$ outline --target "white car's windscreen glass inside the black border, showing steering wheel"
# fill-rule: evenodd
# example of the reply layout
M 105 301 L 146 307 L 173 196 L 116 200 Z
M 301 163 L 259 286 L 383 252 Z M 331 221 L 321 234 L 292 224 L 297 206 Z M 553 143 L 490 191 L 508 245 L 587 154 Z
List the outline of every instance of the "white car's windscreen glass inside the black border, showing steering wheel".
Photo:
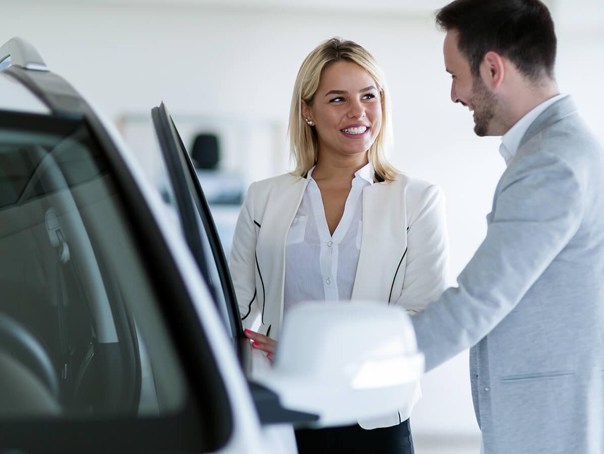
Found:
M 13 403 L 0 419 L 182 409 L 181 366 L 88 129 L 2 124 L 0 361 L 28 386 L 0 387 Z

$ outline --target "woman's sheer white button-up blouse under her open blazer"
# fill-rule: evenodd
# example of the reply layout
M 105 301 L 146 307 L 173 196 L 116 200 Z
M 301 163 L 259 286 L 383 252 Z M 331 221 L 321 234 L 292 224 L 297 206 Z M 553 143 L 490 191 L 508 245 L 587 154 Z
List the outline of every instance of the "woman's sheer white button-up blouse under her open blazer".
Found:
M 373 168 L 367 164 L 356 171 L 333 236 L 313 170 L 307 175 L 308 185 L 286 240 L 284 313 L 301 301 L 350 299 L 355 284 L 361 252 L 361 196 L 363 188 L 373 185 Z

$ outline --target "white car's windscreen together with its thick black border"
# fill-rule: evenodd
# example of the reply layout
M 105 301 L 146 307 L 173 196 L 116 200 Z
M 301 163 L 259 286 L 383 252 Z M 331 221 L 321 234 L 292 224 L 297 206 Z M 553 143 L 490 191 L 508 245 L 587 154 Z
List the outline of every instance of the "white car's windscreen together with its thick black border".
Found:
M 0 110 L 2 446 L 216 450 L 233 426 L 208 339 L 98 140 Z

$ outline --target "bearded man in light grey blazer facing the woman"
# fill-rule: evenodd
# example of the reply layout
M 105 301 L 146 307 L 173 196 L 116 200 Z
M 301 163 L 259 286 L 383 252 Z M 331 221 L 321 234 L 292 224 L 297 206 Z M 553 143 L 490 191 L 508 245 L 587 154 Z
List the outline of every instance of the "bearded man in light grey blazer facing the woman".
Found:
M 538 0 L 457 0 L 437 12 L 451 98 L 503 135 L 487 235 L 413 317 L 432 369 L 471 350 L 486 454 L 604 452 L 604 153 L 554 80 Z

